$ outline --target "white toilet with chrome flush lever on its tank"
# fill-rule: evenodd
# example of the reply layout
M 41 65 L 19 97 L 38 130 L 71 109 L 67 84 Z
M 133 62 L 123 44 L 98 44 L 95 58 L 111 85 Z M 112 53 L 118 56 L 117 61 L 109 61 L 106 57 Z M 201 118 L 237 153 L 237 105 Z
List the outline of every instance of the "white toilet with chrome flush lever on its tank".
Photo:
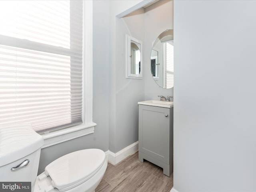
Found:
M 0 127 L 0 181 L 31 182 L 32 192 L 94 192 L 108 161 L 100 149 L 66 154 L 37 176 L 42 136 L 30 124 Z

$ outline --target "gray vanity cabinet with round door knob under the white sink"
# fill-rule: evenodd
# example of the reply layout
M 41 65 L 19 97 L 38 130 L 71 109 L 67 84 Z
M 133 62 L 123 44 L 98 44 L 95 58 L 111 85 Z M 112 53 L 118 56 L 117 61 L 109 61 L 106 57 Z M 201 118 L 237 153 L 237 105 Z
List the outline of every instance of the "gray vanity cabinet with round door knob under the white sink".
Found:
M 173 172 L 173 107 L 139 105 L 139 161 Z

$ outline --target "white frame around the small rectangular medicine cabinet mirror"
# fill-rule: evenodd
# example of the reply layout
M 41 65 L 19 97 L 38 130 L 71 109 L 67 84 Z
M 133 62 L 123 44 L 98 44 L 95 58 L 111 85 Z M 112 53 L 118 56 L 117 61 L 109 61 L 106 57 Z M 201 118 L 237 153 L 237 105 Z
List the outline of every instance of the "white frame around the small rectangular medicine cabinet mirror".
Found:
M 132 74 L 131 73 L 131 41 L 140 44 L 140 74 Z M 142 41 L 133 38 L 131 36 L 126 35 L 126 78 L 132 79 L 142 79 Z

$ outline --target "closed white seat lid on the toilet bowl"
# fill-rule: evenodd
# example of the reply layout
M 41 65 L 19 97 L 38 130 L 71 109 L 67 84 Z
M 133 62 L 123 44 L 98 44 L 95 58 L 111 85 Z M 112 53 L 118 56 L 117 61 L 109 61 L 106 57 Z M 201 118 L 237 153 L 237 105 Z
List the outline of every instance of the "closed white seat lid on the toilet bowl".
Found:
M 105 157 L 100 149 L 80 150 L 51 162 L 45 172 L 51 177 L 52 186 L 64 191 L 91 178 L 104 164 Z

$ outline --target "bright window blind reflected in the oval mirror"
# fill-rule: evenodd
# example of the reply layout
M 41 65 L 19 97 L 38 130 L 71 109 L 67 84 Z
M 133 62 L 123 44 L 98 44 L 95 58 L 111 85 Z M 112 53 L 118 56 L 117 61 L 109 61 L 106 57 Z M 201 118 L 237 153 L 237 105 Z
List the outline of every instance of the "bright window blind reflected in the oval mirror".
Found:
M 164 87 L 172 88 L 174 85 L 174 68 L 173 68 L 173 42 L 164 43 Z

